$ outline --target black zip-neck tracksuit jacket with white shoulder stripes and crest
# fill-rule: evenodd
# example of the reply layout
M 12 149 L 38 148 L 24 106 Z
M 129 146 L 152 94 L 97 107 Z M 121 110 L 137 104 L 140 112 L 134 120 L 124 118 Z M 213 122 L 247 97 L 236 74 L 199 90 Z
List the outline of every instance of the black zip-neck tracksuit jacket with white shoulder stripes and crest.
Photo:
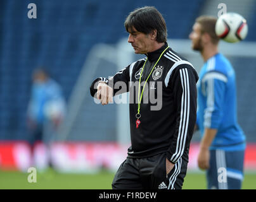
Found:
M 120 70 L 111 78 L 96 78 L 90 92 L 96 97 L 98 81 L 105 81 L 114 86 L 113 93 L 117 95 L 130 92 L 130 128 L 131 147 L 128 157 L 141 158 L 166 152 L 170 162 L 176 163 L 179 158 L 188 162 L 189 144 L 196 122 L 196 82 L 198 75 L 186 59 L 179 56 L 167 43 L 158 50 L 146 54 L 146 58 L 133 62 Z M 162 54 L 163 50 L 165 52 Z M 155 70 L 148 78 L 151 69 Z M 148 78 L 141 100 L 139 127 L 136 128 L 136 114 L 138 112 L 138 84 L 143 64 L 141 83 Z M 117 87 L 118 81 L 125 83 Z M 137 81 L 137 82 L 136 82 Z M 119 85 L 120 86 L 120 85 Z M 141 85 L 141 91 L 143 86 Z M 158 93 L 162 92 L 162 93 Z M 155 96 L 155 100 L 150 97 Z M 157 103 L 155 102 L 157 100 Z M 157 107 L 158 106 L 158 107 Z M 155 109 L 154 109 L 155 107 Z

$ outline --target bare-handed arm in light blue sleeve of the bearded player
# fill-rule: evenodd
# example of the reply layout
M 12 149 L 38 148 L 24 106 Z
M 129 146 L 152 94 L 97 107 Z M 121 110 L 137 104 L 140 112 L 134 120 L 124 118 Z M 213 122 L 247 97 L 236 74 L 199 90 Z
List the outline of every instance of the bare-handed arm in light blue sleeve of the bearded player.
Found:
M 200 142 L 198 167 L 203 170 L 209 168 L 209 147 L 214 141 L 224 115 L 222 106 L 224 104 L 226 82 L 227 77 L 216 71 L 209 72 L 202 78 L 202 83 L 205 86 L 205 95 L 207 97 L 207 108 L 204 114 L 203 124 L 205 131 Z

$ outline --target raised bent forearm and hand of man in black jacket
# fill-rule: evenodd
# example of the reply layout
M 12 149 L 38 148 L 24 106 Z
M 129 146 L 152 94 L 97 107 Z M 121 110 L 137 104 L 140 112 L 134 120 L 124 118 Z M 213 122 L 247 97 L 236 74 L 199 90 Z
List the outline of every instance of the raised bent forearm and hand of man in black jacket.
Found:
M 99 77 L 90 87 L 91 96 L 99 99 L 102 105 L 113 102 L 113 96 L 129 90 L 129 66 L 110 78 Z

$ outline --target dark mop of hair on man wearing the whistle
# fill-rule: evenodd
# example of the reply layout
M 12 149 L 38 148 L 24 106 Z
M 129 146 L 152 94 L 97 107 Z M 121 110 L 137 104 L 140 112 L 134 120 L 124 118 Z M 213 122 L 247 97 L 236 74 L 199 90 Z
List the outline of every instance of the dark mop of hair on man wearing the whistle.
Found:
M 161 13 L 153 6 L 137 8 L 127 16 L 124 27 L 127 32 L 135 28 L 138 32 L 149 34 L 157 30 L 157 42 L 167 41 L 167 28 Z

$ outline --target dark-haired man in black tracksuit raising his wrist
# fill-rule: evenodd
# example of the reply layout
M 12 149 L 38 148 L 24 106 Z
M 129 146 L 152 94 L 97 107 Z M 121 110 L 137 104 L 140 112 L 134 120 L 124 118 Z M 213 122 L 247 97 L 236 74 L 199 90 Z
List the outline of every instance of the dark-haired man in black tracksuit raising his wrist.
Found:
M 154 7 L 132 11 L 125 28 L 134 52 L 146 57 L 109 79 L 97 78 L 90 88 L 102 105 L 130 92 L 131 147 L 112 187 L 181 189 L 196 122 L 198 75 L 167 44 L 165 21 Z

